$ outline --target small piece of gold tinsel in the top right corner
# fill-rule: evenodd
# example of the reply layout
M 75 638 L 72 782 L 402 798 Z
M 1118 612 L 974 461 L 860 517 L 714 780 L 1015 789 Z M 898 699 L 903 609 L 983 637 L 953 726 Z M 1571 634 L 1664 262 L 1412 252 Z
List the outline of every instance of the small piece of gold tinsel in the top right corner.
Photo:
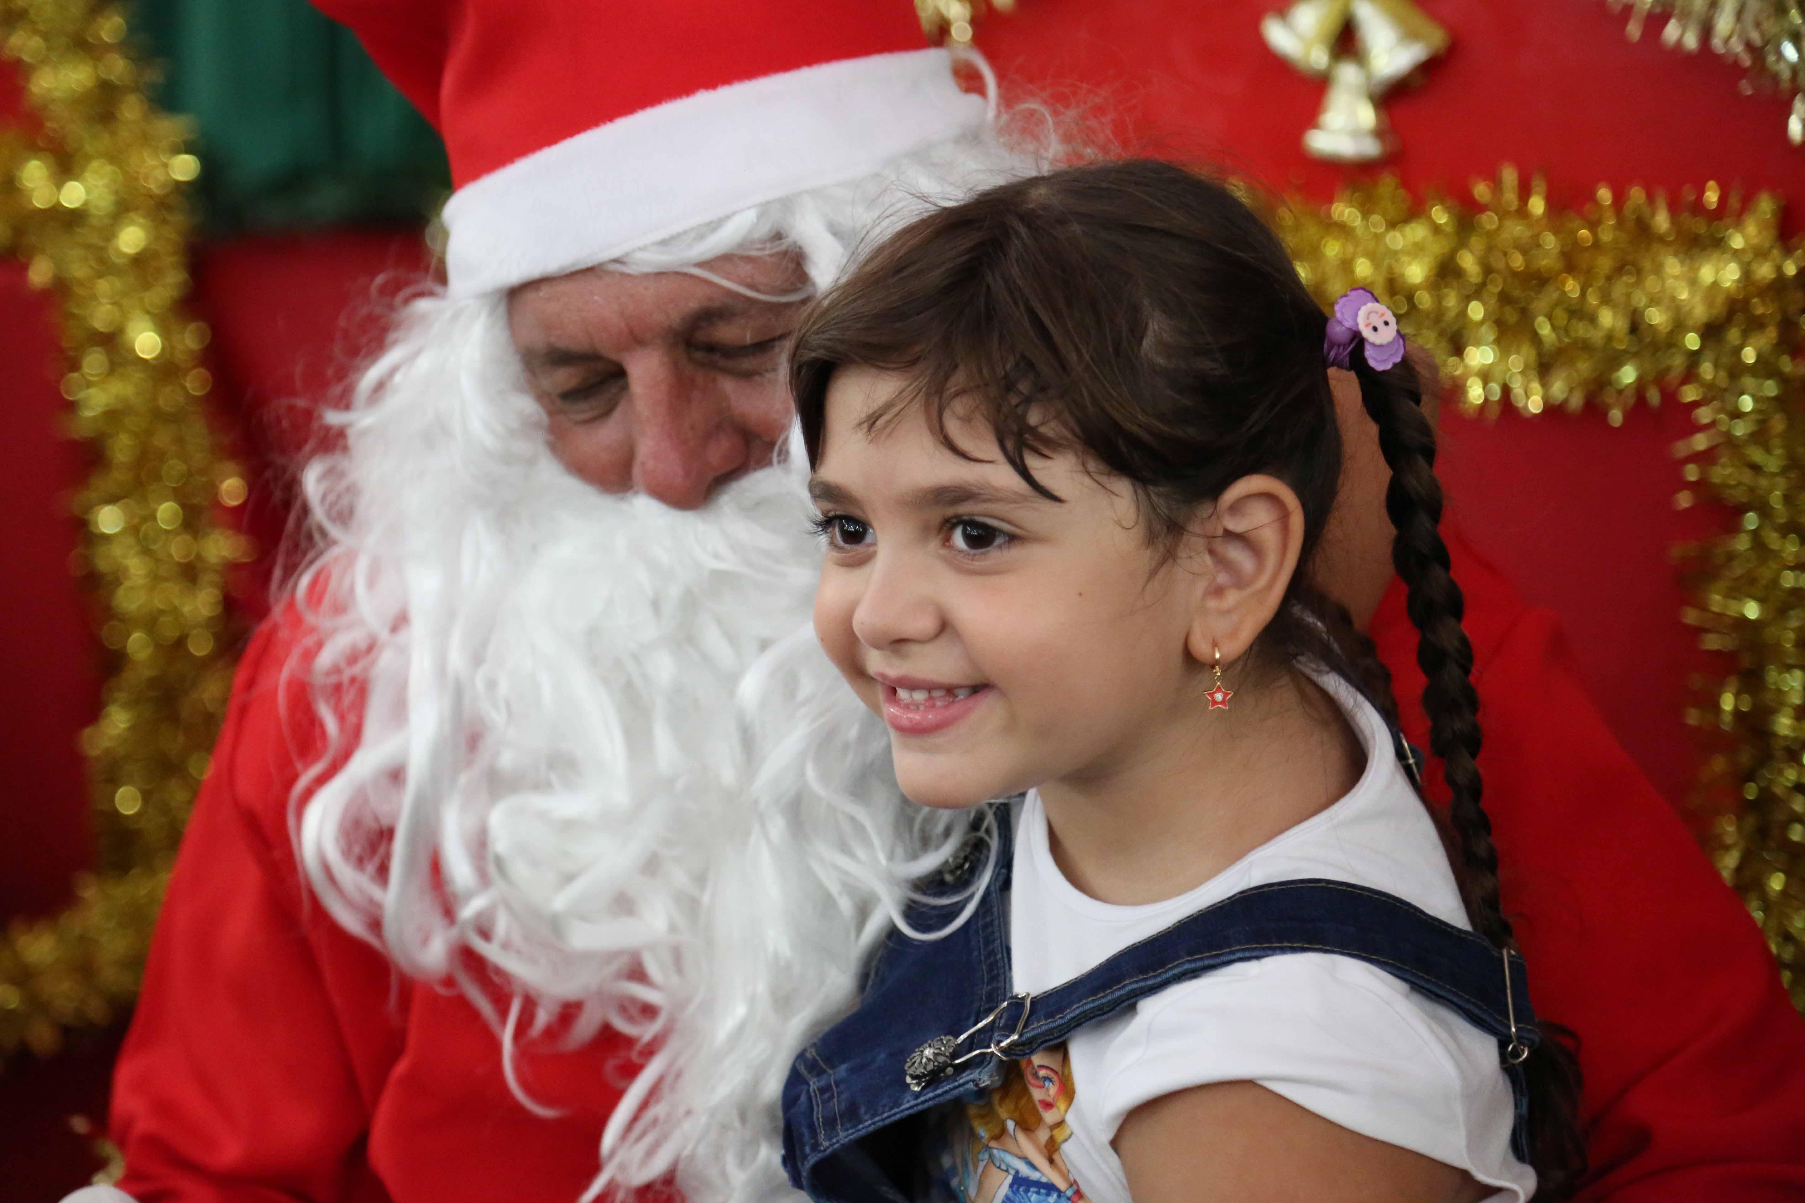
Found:
M 1666 16 L 1661 45 L 1711 52 L 1744 70 L 1760 69 L 1782 94 L 1792 92 L 1787 139 L 1805 142 L 1805 4 L 1801 0 L 1606 0 L 1612 13 L 1628 5 L 1630 41 L 1639 41 L 1650 13 Z M 1747 87 L 1747 85 L 1745 85 Z

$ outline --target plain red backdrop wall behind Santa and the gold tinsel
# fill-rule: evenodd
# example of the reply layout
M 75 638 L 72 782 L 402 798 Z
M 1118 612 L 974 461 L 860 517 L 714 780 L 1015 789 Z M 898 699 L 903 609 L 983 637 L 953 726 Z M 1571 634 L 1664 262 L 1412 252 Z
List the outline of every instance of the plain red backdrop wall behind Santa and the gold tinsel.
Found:
M 901 0 L 895 0 L 901 2 Z M 1630 45 L 1599 0 L 1421 0 L 1455 36 L 1421 88 L 1388 103 L 1402 153 L 1384 164 L 1412 188 L 1462 193 L 1514 162 L 1543 173 L 1558 202 L 1599 182 L 1680 193 L 1706 180 L 1773 189 L 1805 204 L 1805 153 L 1785 142 L 1785 105 L 1742 96 L 1711 56 Z M 1126 150 L 1226 162 L 1282 191 L 1327 198 L 1347 179 L 1303 157 L 1321 85 L 1258 36 L 1265 0 L 1018 0 L 978 41 L 1011 96 L 1114 114 Z M 0 79 L 0 88 L 11 88 Z M 0 94 L 0 123 L 29 121 Z M 1368 173 L 1356 173 L 1354 179 Z M 1789 224 L 1796 229 L 1794 211 Z M 415 231 L 332 233 L 204 245 L 197 312 L 215 328 L 211 368 L 222 436 L 251 469 L 247 523 L 271 545 L 310 413 L 368 348 L 395 287 L 422 265 Z M 87 857 L 87 803 L 74 738 L 96 712 L 103 662 L 87 599 L 67 570 L 79 523 L 72 491 L 85 451 L 61 433 L 51 298 L 0 263 L 0 364 L 7 438 L 0 514 L 11 554 L 0 588 L 0 914 L 67 900 Z M 1680 406 L 1635 409 L 1623 427 L 1594 415 L 1449 418 L 1444 474 L 1469 537 L 1536 602 L 1561 613 L 1612 730 L 1675 801 L 1693 774 L 1679 714 L 1688 675 L 1709 671 L 1679 622 L 1675 541 L 1713 532 L 1708 509 L 1675 512 L 1668 447 L 1691 433 Z M 260 601 L 253 588 L 245 604 Z M 79 1071 L 76 1071 L 79 1070 Z M 74 1071 L 74 1073 L 72 1073 Z M 105 1046 L 87 1061 L 0 1077 L 0 1183 L 7 1199 L 54 1199 L 79 1183 L 87 1151 L 72 1111 L 103 1107 Z

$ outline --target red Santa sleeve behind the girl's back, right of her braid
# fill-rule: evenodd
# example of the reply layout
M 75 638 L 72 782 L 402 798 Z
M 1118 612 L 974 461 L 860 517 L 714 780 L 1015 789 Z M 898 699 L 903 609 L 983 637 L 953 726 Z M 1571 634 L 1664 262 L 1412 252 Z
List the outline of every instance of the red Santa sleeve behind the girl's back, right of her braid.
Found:
M 1590 1185 L 1612 1203 L 1805 1198 L 1805 1023 L 1767 945 L 1587 700 L 1554 617 L 1449 537 L 1480 770 L 1540 1015 L 1579 1033 Z M 1428 745 L 1393 583 L 1374 638 Z M 1431 783 L 1433 792 L 1433 783 Z

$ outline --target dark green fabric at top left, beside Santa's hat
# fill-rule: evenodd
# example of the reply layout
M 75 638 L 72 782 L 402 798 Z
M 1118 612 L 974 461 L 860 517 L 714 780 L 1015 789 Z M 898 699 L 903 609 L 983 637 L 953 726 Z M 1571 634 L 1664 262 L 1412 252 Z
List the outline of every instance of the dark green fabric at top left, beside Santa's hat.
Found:
M 439 135 L 307 0 L 134 0 L 130 16 L 157 101 L 195 121 L 206 233 L 417 222 L 451 191 Z

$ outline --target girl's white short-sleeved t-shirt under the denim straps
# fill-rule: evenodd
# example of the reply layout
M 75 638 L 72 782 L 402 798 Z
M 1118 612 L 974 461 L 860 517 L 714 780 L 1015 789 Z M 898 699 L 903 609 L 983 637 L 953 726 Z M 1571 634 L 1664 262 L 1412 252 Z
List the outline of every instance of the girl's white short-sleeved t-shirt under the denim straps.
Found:
M 1435 824 L 1392 754 L 1384 720 L 1345 682 L 1319 684 L 1341 703 L 1366 750 L 1359 783 L 1328 810 L 1177 898 L 1123 907 L 1079 893 L 1054 864 L 1038 794 L 1027 795 L 1016 808 L 1011 889 L 1016 992 L 1051 990 L 1206 905 L 1285 878 L 1370 886 L 1469 927 Z M 1076 1180 L 1092 1203 L 1130 1203 L 1110 1147 L 1123 1118 L 1143 1102 L 1209 1082 L 1258 1082 L 1341 1127 L 1460 1167 L 1498 1187 L 1489 1203 L 1522 1203 L 1536 1189 L 1534 1171 L 1511 1152 L 1514 1107 L 1498 1042 L 1448 1006 L 1350 958 L 1298 952 L 1218 969 L 1079 1028 L 1063 1064 L 1054 1053 L 1047 1064 L 1022 1066 L 1027 1080 L 1040 1075 L 1047 1127 L 1029 1147 L 1011 1122 L 989 1154 L 1000 1167 L 1027 1160 L 1041 1167 L 1022 1171 L 1022 1198 L 1052 1198 L 1049 1187 L 1029 1187 L 1051 1178 L 1065 1187 L 1063 1198 L 1079 1198 L 1070 1190 Z M 1060 1107 L 1065 1127 L 1058 1140 L 1047 1140 Z M 991 1171 L 991 1180 L 1000 1172 L 1007 1171 Z M 1004 1183 L 995 1199 L 1009 1198 Z

